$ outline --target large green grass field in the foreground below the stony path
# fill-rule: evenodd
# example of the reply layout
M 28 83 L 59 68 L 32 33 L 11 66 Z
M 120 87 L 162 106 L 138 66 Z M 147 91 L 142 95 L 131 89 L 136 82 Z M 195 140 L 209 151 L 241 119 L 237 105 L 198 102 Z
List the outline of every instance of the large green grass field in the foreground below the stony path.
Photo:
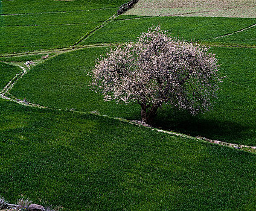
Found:
M 0 99 L 0 193 L 63 210 L 254 210 L 254 154 Z

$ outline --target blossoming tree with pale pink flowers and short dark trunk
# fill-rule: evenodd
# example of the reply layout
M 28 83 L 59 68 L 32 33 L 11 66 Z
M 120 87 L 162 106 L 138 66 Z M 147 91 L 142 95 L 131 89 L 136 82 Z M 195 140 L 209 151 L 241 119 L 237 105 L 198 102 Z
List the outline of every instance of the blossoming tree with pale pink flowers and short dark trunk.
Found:
M 205 46 L 150 28 L 135 43 L 120 44 L 98 58 L 92 90 L 105 101 L 138 102 L 142 121 L 152 124 L 163 104 L 192 114 L 209 110 L 219 87 L 218 68 Z

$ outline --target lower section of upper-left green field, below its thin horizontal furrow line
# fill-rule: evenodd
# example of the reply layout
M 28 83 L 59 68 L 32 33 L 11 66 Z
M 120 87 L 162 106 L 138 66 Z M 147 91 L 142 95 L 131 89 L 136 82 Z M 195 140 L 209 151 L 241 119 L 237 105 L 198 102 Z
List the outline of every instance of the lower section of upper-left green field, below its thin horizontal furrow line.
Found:
M 95 24 L 4 27 L 1 39 L 2 54 L 65 48 L 75 43 Z

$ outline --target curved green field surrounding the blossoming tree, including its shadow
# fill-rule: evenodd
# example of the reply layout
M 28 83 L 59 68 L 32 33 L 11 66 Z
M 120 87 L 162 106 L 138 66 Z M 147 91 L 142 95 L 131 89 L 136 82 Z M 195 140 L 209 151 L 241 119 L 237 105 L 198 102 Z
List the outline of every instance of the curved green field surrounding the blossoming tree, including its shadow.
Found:
M 140 119 L 137 104 L 104 102 L 89 90 L 94 60 L 106 48 L 88 48 L 59 55 L 35 66 L 24 75 L 11 93 L 35 104 L 57 109 L 99 112 L 126 119 Z M 232 143 L 256 145 L 256 101 L 254 57 L 256 49 L 212 48 L 219 58 L 221 74 L 226 75 L 219 99 L 211 112 L 195 117 L 164 107 L 156 121 L 168 130 L 220 139 Z

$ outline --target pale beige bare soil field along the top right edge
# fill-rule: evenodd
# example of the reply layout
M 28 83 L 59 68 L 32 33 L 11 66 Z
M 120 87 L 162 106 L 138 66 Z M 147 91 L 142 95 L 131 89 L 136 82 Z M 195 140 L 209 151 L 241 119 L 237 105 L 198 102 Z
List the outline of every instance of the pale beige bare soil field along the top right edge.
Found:
M 140 0 L 126 14 L 256 18 L 252 0 Z

